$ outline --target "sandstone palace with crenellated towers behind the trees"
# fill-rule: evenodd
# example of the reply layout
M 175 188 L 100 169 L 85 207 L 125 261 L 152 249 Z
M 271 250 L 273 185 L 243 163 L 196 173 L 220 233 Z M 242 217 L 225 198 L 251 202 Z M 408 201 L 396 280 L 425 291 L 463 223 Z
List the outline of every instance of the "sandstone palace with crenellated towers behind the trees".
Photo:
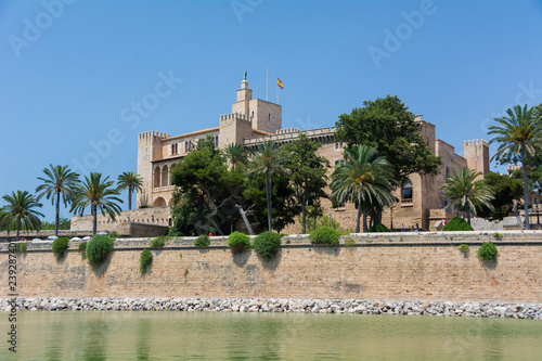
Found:
M 489 172 L 489 147 L 483 140 L 465 141 L 464 156 L 455 154 L 455 149 L 449 143 L 436 138 L 435 125 L 415 117 L 420 131 L 431 152 L 441 157 L 440 175 L 411 175 L 409 180 L 396 192 L 399 199 L 392 207 L 386 208 L 383 223 L 388 228 L 421 228 L 430 230 L 442 219 L 452 217 L 452 209 L 447 208 L 449 199 L 443 196 L 439 186 L 444 178 L 455 168 L 468 167 Z M 295 141 L 304 132 L 308 138 L 322 143 L 320 155 L 326 157 L 331 165 L 343 158 L 341 142 L 335 140 L 335 127 L 299 130 L 282 128 L 282 107 L 279 104 L 260 99 L 253 99 L 248 82 L 243 80 L 237 90 L 237 101 L 232 105 L 232 112 L 220 115 L 219 125 L 185 134 L 173 136 L 157 131 L 139 134 L 138 139 L 138 173 L 143 178 L 143 190 L 138 192 L 138 206 L 149 205 L 156 208 L 172 205 L 171 170 L 178 162 L 191 151 L 202 138 L 212 137 L 217 147 L 222 149 L 230 143 L 240 143 L 248 149 L 255 149 L 261 141 L 274 140 L 278 144 Z M 330 169 L 330 175 L 333 169 Z M 325 215 L 337 219 L 341 227 L 356 225 L 357 211 L 352 204 L 332 208 L 331 202 L 322 202 Z M 164 209 L 160 210 L 160 214 Z M 170 219 L 168 219 L 170 223 Z M 287 233 L 299 231 L 299 224 L 285 230 Z

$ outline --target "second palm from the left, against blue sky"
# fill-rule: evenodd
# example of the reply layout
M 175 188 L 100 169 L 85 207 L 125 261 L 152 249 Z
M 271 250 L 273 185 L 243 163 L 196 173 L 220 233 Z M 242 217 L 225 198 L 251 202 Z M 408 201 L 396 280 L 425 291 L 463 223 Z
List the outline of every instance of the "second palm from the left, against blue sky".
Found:
M 55 205 L 56 216 L 54 219 L 54 235 L 59 235 L 59 218 L 60 218 L 60 206 L 61 206 L 61 195 L 62 202 L 64 206 L 67 206 L 68 203 L 72 202 L 72 195 L 74 191 L 79 185 L 79 175 L 73 172 L 68 169 L 67 166 L 54 166 L 52 164 L 49 165 L 49 168 L 43 168 L 43 172 L 47 178 L 39 178 L 43 184 L 39 185 L 36 189 L 36 193 L 38 193 L 38 197 L 36 201 L 39 201 L 42 196 L 46 196 L 48 199 L 51 198 L 51 203 Z

